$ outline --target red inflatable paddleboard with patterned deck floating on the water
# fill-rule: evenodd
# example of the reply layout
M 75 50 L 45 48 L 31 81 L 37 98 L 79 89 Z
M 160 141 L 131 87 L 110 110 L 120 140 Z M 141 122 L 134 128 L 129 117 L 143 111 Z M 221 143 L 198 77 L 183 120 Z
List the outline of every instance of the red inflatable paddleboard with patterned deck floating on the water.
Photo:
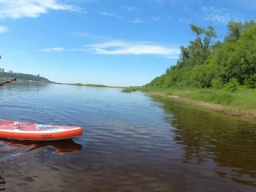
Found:
M 0 119 L 0 138 L 49 141 L 74 138 L 81 134 L 82 128 L 79 126 L 49 126 Z

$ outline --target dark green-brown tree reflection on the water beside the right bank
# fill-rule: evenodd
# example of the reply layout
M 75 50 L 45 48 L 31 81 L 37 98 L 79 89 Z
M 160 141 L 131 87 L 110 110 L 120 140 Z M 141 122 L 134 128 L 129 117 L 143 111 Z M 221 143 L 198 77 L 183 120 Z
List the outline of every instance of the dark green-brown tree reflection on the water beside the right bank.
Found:
M 256 186 L 256 125 L 223 117 L 186 103 L 154 97 L 164 105 L 174 141 L 183 146 L 182 162 L 218 164 L 216 173 L 234 182 Z

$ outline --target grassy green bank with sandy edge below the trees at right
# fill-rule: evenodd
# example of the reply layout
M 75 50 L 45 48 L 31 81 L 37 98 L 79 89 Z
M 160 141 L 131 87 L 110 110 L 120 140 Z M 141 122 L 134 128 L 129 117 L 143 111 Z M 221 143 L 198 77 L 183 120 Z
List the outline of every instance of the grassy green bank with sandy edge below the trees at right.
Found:
M 234 92 L 213 89 L 166 90 L 147 87 L 130 89 L 130 91 L 134 90 L 203 106 L 220 114 L 256 121 L 255 89 L 240 87 Z

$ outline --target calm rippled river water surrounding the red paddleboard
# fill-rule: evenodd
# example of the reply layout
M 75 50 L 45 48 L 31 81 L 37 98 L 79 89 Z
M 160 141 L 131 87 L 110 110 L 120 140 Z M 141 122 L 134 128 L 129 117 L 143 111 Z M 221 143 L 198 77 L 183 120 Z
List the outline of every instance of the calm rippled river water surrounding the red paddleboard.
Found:
M 0 89 L 0 118 L 81 126 L 71 140 L 0 140 L 0 190 L 256 191 L 256 123 L 120 89 Z

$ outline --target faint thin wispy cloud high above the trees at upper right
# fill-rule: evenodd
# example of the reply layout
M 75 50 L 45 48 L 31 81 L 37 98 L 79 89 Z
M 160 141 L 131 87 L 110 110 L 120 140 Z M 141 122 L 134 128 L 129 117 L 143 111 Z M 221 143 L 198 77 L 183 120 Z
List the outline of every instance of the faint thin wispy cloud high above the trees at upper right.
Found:
M 214 21 L 214 22 L 226 24 L 230 20 L 233 20 L 233 21 L 242 20 L 238 12 L 234 10 L 226 9 L 224 7 L 216 8 L 214 6 L 203 6 L 202 10 L 206 14 L 204 19 L 208 21 Z

